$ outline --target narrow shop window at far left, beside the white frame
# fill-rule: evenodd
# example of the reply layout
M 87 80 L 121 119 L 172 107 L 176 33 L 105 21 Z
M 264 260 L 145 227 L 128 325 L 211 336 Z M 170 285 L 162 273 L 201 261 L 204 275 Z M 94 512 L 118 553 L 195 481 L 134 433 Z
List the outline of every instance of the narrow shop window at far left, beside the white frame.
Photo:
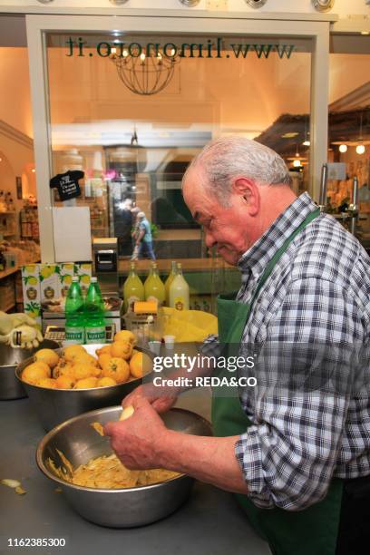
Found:
M 0 310 L 23 309 L 20 267 L 40 260 L 24 17 L 0 17 Z

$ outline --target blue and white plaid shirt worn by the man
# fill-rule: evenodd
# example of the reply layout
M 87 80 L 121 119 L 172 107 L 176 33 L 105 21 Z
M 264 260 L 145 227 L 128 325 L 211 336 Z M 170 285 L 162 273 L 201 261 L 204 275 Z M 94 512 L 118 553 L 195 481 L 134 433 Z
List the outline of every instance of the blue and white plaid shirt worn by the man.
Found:
M 250 300 L 269 260 L 314 209 L 301 195 L 240 258 L 237 300 Z M 235 453 L 251 501 L 299 511 L 325 497 L 332 477 L 370 474 L 370 258 L 336 219 L 320 214 L 290 244 L 252 307 L 242 344 L 264 349 L 265 364 L 265 347 L 273 344 L 326 346 L 329 353 L 361 345 L 367 353 L 367 385 L 350 395 L 239 390 L 251 425 Z M 219 348 L 217 336 L 209 336 L 201 351 L 217 355 Z M 271 355 L 271 365 L 277 358 Z

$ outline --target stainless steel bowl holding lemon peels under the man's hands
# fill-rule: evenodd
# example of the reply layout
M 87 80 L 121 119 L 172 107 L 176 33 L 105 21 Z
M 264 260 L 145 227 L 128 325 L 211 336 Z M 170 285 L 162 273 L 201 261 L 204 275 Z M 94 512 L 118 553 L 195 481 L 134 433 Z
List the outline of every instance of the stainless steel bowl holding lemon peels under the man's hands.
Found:
M 131 528 L 159 521 L 176 511 L 189 497 L 194 480 L 190 476 L 181 474 L 168 482 L 149 486 L 98 490 L 64 482 L 46 465 L 49 457 L 57 465 L 63 465 L 57 449 L 62 451 L 74 468 L 95 457 L 111 454 L 108 438 L 101 437 L 90 424 L 97 421 L 105 424 L 110 420 L 118 420 L 121 411 L 121 406 L 113 406 L 81 414 L 57 426 L 39 443 L 36 461 L 40 470 L 62 487 L 73 509 L 84 519 L 101 526 Z M 171 430 L 195 435 L 211 435 L 209 422 L 199 414 L 183 409 L 171 409 L 161 415 L 161 418 Z

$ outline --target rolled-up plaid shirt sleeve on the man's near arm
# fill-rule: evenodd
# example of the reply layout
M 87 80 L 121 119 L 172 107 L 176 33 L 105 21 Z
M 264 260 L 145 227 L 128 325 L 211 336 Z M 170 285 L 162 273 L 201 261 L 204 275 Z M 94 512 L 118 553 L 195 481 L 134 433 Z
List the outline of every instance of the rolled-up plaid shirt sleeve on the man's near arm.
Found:
M 248 496 L 258 507 L 301 511 L 325 497 L 348 410 L 350 376 L 348 381 L 348 375 L 336 373 L 364 333 L 358 308 L 343 288 L 320 279 L 291 284 L 262 337 L 263 365 L 272 368 L 270 376 L 275 372 L 276 383 L 240 394 L 251 425 L 240 435 L 235 453 Z M 287 364 L 287 357 L 277 355 L 276 346 L 284 344 L 296 350 L 301 346 L 300 355 L 307 350 L 306 365 L 302 356 Z M 323 379 L 320 365 L 327 356 L 331 375 Z M 297 365 L 306 379 L 292 385 L 288 375 Z M 307 376 L 312 383 L 308 379 L 307 384 Z M 254 395 L 249 405 L 248 395 Z

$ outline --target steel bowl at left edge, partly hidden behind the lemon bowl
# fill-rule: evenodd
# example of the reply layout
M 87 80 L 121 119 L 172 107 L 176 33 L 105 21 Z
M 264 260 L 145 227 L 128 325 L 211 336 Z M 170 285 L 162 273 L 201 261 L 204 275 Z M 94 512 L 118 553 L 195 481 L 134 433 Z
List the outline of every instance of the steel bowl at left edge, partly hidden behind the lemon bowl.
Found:
M 56 349 L 59 345 L 55 341 L 44 339 L 36 349 L 13 348 L 0 345 L 0 401 L 22 399 L 27 394 L 24 384 L 15 377 L 15 367 L 24 360 L 29 360 L 39 349 Z

